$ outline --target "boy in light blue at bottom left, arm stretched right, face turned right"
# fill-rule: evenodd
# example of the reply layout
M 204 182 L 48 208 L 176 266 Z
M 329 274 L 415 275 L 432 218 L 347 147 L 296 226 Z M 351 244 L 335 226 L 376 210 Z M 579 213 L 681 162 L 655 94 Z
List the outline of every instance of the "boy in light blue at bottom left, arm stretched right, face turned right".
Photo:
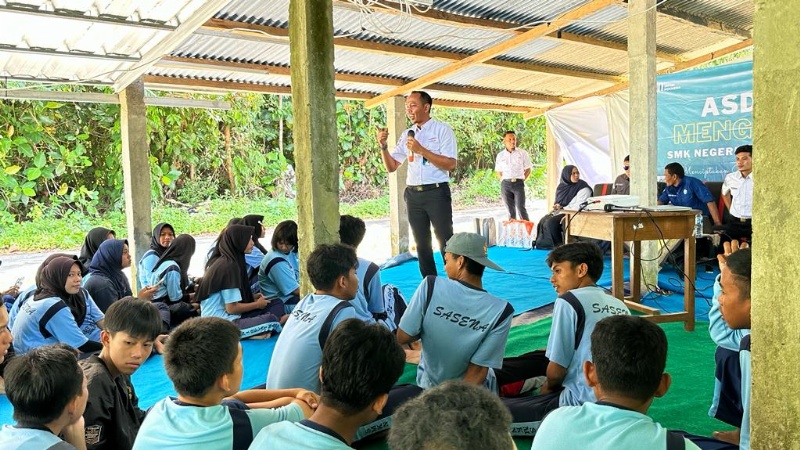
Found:
M 311 415 L 303 401 L 288 399 L 277 409 L 236 409 L 222 404 L 242 382 L 239 328 L 218 317 L 186 321 L 173 330 L 164 366 L 178 398 L 160 400 L 147 413 L 134 449 L 244 450 L 267 425 Z M 285 397 L 287 391 L 278 391 Z

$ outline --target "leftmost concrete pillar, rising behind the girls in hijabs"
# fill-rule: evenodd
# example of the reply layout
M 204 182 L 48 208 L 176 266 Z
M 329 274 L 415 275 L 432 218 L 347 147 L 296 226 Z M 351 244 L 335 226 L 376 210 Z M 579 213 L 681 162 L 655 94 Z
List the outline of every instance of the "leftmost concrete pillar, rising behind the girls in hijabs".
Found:
M 131 253 L 131 279 L 136 280 L 136 262 L 150 248 L 151 194 L 150 149 L 147 142 L 147 108 L 141 78 L 119 94 L 122 135 L 122 172 L 125 189 L 125 217 L 128 249 Z M 136 293 L 136 283 L 131 283 Z

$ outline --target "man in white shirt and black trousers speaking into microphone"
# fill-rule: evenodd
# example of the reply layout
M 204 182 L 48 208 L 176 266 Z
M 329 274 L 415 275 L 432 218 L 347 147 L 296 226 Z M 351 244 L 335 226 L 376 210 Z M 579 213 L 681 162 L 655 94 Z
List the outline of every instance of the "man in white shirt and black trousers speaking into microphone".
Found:
M 436 275 L 431 245 L 431 225 L 444 255 L 445 243 L 453 235 L 453 206 L 450 196 L 450 171 L 458 159 L 456 136 L 450 126 L 431 118 L 433 100 L 424 91 L 406 97 L 406 116 L 412 126 L 402 133 L 390 152 L 389 131 L 378 130 L 378 144 L 386 170 L 397 170 L 408 160 L 404 198 L 408 223 L 417 243 L 422 277 Z

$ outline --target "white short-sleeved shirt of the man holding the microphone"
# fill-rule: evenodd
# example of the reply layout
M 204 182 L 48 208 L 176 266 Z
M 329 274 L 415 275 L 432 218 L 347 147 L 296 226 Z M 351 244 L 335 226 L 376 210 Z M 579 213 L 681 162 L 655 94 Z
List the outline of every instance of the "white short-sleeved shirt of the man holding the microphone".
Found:
M 439 122 L 436 119 L 428 119 L 427 122 L 418 127 L 414 124 L 409 130 L 414 131 L 414 139 L 426 149 L 438 155 L 448 158 L 458 159 L 458 148 L 456 145 L 456 134 L 449 125 Z M 422 155 L 414 154 L 414 161 L 408 161 L 408 149 L 406 148 L 406 138 L 408 130 L 403 132 L 397 145 L 392 151 L 392 158 L 397 162 L 406 161 L 408 172 L 406 174 L 406 184 L 408 186 L 420 186 L 423 184 L 447 183 L 450 181 L 450 172 L 434 166 Z

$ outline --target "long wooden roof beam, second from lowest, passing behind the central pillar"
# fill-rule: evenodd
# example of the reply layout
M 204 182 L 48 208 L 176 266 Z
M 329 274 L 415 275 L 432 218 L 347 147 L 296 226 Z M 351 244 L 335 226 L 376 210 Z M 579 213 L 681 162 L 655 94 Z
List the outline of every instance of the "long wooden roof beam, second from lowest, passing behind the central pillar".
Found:
M 200 58 L 187 58 L 180 56 L 165 56 L 158 63 L 156 67 L 163 68 L 181 68 L 189 70 L 222 70 L 233 71 L 241 73 L 254 73 L 254 74 L 270 74 L 280 76 L 290 76 L 290 70 L 285 66 L 277 66 L 270 64 L 254 64 L 242 63 L 234 61 L 219 61 L 213 59 L 200 59 Z M 408 82 L 399 78 L 387 78 L 374 75 L 357 75 L 336 73 L 334 79 L 344 83 L 364 83 L 374 84 L 376 86 L 402 86 Z M 514 100 L 527 100 L 534 102 L 544 103 L 560 103 L 567 100 L 568 97 L 558 97 L 555 95 L 535 94 L 527 92 L 514 92 L 504 91 L 499 89 L 486 89 L 465 86 L 455 86 L 448 84 L 436 83 L 428 86 L 431 90 L 442 92 L 455 92 L 459 94 L 476 95 L 481 97 L 501 97 Z

